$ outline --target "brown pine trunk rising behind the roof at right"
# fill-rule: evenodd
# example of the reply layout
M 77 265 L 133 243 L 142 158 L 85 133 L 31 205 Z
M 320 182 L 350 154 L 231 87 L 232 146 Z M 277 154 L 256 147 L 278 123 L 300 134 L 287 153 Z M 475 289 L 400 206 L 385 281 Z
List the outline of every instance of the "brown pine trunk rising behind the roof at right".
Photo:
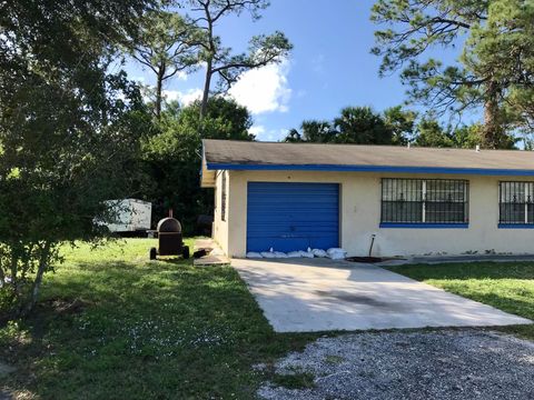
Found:
M 503 127 L 498 118 L 498 94 L 497 83 L 490 81 L 486 87 L 484 129 L 482 131 L 482 146 L 486 149 L 498 149 L 504 143 Z

